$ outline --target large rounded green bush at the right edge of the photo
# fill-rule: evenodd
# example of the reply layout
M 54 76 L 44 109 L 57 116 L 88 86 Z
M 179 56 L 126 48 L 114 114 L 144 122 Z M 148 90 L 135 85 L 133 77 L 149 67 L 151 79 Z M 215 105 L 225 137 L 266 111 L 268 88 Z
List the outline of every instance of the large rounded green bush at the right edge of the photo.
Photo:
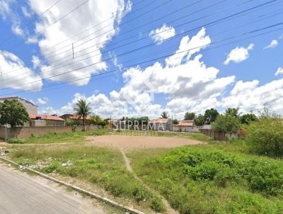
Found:
M 283 155 L 283 120 L 279 116 L 263 116 L 246 128 L 246 142 L 252 152 L 273 157 Z

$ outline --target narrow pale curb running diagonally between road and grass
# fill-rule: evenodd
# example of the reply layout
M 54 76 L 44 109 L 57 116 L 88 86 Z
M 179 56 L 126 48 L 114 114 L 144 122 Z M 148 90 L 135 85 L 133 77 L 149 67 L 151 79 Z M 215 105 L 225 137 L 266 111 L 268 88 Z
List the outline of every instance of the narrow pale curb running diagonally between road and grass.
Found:
M 6 159 L 6 158 L 4 158 L 4 157 L 0 157 L 0 159 L 1 159 L 1 160 L 4 160 L 4 161 L 6 161 L 6 162 L 9 162 L 9 163 L 11 163 L 11 164 L 14 164 L 14 165 L 16 165 L 16 166 L 19 166 L 18 163 L 13 162 L 13 161 L 11 161 L 11 160 L 9 160 L 9 159 Z M 25 167 L 25 169 L 27 169 L 28 171 L 32 171 L 33 173 L 35 173 L 35 174 L 37 174 L 37 175 L 39 175 L 39 176 L 42 176 L 42 177 L 45 178 L 45 179 L 48 179 L 48 180 L 50 180 L 50 181 L 53 181 L 53 182 L 55 182 L 55 183 L 57 183 L 57 184 L 62 184 L 62 185 L 64 185 L 64 186 L 67 186 L 67 187 L 69 187 L 69 188 L 74 189 L 75 191 L 78 191 L 78 192 L 80 192 L 80 193 L 85 193 L 85 194 L 87 194 L 88 196 L 91 196 L 91 197 L 93 197 L 93 198 L 96 198 L 96 199 L 98 199 L 98 200 L 100 200 L 100 201 L 104 201 L 105 203 L 108 203 L 108 204 L 110 204 L 110 205 L 113 205 L 113 206 L 115 206 L 115 207 L 117 207 L 117 208 L 122 208 L 123 210 L 126 210 L 126 211 L 128 211 L 128 212 L 130 212 L 130 213 L 145 214 L 145 213 L 143 213 L 143 212 L 141 212 L 141 211 L 139 211 L 139 210 L 135 210 L 134 208 L 129 208 L 129 207 L 127 207 L 126 205 L 122 205 L 121 203 L 117 203 L 117 202 L 115 202 L 115 201 L 112 201 L 112 200 L 110 200 L 110 199 L 108 199 L 108 198 L 105 198 L 105 197 L 103 197 L 103 196 L 100 196 L 100 195 L 98 195 L 98 194 L 96 194 L 96 193 L 93 193 L 93 192 L 91 192 L 91 191 L 84 190 L 83 188 L 80 188 L 79 186 L 74 186 L 74 185 L 68 184 L 68 183 L 66 183 L 66 182 L 64 182 L 64 181 L 60 181 L 60 180 L 58 180 L 58 179 L 55 179 L 55 178 L 53 178 L 52 176 L 48 176 L 47 174 L 43 174 L 43 173 L 41 173 L 41 172 L 39 172 L 39 171 L 36 171 L 36 170 L 34 170 L 34 169 L 30 169 L 29 167 Z

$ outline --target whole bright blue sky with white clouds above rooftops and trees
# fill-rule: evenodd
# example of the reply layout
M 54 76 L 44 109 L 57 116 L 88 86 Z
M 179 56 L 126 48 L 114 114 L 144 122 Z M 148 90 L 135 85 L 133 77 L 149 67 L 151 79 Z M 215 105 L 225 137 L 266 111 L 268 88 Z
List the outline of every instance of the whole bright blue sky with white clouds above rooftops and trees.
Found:
M 55 2 L 0 2 L 0 96 L 23 96 L 48 114 L 71 113 L 79 98 L 103 117 L 263 106 L 283 113 L 282 1 Z M 179 48 L 183 60 L 166 62 Z

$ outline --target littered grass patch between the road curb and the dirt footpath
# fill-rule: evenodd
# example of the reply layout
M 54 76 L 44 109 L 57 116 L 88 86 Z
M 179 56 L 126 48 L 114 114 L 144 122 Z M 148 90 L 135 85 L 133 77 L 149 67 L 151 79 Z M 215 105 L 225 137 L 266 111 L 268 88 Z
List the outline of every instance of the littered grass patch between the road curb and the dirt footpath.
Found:
M 91 182 L 112 196 L 127 198 L 141 208 L 164 211 L 160 196 L 151 193 L 127 171 L 119 150 L 83 145 L 42 145 L 18 147 L 10 157 L 24 166 L 40 162 L 40 171 L 46 174 L 57 173 Z

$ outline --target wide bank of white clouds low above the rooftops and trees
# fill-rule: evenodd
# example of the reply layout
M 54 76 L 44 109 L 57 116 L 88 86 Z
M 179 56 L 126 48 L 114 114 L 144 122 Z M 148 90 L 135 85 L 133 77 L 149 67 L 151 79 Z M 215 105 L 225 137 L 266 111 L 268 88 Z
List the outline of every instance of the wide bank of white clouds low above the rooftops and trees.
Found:
M 234 84 L 234 76 L 218 77 L 219 69 L 208 67 L 200 55 L 200 51 L 209 43 L 211 40 L 203 28 L 191 39 L 182 38 L 178 50 L 165 63 L 155 62 L 144 69 L 127 69 L 122 75 L 125 84 L 120 90 L 113 90 L 108 95 L 93 94 L 88 97 L 74 94 L 74 98 L 62 108 L 55 110 L 47 107 L 42 111 L 59 115 L 73 113 L 74 105 L 83 98 L 90 103 L 93 113 L 104 118 L 156 118 L 162 111 L 168 111 L 170 116 L 183 118 L 186 111 L 204 113 L 207 108 L 237 106 L 241 108 L 241 112 L 253 110 L 256 113 L 267 106 L 283 113 L 283 79 L 260 86 L 256 79 L 239 80 Z M 193 47 L 197 48 L 191 50 Z M 252 44 L 246 48 L 252 49 Z M 165 96 L 166 103 L 156 103 L 154 94 Z

